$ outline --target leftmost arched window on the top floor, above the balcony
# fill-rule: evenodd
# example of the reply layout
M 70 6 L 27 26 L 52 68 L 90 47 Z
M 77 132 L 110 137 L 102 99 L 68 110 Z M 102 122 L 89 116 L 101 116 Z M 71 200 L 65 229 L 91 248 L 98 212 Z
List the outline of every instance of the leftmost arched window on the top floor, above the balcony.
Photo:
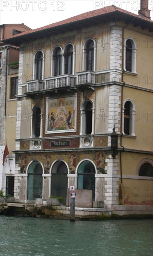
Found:
M 43 53 L 38 51 L 34 59 L 34 79 L 42 80 L 43 78 Z

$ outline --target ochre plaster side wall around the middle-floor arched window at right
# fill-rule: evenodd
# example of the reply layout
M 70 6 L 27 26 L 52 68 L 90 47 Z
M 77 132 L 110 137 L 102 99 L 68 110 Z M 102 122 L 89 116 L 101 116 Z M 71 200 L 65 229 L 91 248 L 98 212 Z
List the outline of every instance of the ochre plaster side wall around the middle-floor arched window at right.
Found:
M 122 138 L 125 148 L 153 150 L 153 95 L 151 92 L 124 87 L 123 102 L 130 99 L 135 106 L 135 138 Z

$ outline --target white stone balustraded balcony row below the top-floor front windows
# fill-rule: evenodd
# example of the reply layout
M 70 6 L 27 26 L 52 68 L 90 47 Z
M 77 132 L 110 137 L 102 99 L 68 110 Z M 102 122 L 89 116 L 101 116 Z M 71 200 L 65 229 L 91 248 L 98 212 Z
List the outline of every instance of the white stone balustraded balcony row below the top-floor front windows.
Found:
M 92 88 L 94 89 L 96 84 L 102 84 L 109 82 L 109 72 L 108 71 L 83 71 L 77 74 L 64 74 L 58 76 L 52 76 L 45 78 L 45 80 L 32 80 L 27 81 L 22 84 L 22 88 L 18 88 L 21 94 L 27 94 L 29 97 L 34 97 L 35 95 L 43 96 L 45 92 L 53 93 L 57 92 L 57 89 L 61 91 L 67 90 L 71 92 L 72 90 L 79 88 Z

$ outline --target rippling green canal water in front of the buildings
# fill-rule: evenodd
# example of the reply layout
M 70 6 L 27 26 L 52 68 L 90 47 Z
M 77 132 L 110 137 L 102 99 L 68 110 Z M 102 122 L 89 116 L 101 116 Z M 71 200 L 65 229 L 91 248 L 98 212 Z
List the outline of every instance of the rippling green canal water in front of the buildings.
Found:
M 0 256 L 153 256 L 153 220 L 0 216 Z

